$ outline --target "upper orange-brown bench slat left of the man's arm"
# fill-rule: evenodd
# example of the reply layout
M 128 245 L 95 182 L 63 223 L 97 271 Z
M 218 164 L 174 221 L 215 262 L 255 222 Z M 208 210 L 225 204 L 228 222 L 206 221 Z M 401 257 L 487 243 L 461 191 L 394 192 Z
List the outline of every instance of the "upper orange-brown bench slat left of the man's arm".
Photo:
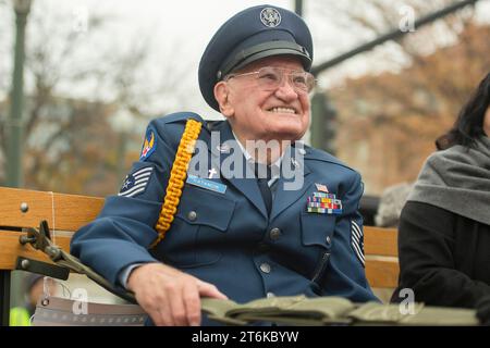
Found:
M 47 220 L 50 228 L 77 231 L 94 220 L 103 204 L 98 197 L 5 187 L 0 187 L 0 226 L 38 227 L 41 220 Z M 25 213 L 21 211 L 23 202 L 28 206 Z

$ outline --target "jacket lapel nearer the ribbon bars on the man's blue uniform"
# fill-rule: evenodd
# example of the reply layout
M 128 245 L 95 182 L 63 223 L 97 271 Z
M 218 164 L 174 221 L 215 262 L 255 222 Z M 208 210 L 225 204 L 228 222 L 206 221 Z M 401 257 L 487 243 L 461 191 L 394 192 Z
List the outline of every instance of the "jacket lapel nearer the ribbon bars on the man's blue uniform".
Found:
M 277 184 L 277 190 L 275 190 L 275 196 L 272 202 L 272 212 L 270 215 L 270 220 L 272 221 L 273 219 L 275 219 L 275 216 L 278 216 L 281 212 L 283 212 L 285 209 L 287 209 L 289 207 L 291 207 L 295 201 L 297 201 L 301 197 L 304 196 L 305 191 L 308 189 L 308 187 L 311 185 L 313 183 L 313 176 L 314 175 L 308 175 L 310 173 L 310 170 L 308 167 L 308 165 L 306 164 L 306 162 L 303 161 L 298 161 L 298 160 L 293 160 L 293 159 L 297 159 L 297 154 L 295 156 L 294 147 L 290 148 L 290 157 L 284 157 L 282 160 L 281 165 L 293 165 L 292 163 L 294 163 L 296 161 L 296 165 L 298 165 L 298 167 L 296 169 L 296 175 L 303 175 L 303 185 L 301 185 L 301 187 L 298 187 L 297 189 L 285 189 L 287 188 L 285 186 L 286 183 L 292 184 L 295 178 L 291 177 L 291 178 L 285 178 L 283 176 L 283 171 L 281 171 L 281 177 L 278 179 Z M 294 165 L 293 165 L 294 166 Z M 305 207 L 306 207 L 306 201 L 305 201 Z

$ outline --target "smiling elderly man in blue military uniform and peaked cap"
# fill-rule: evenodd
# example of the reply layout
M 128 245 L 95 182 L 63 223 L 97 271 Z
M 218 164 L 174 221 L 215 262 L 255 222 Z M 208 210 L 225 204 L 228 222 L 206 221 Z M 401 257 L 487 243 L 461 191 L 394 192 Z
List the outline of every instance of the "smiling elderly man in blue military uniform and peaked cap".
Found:
M 134 291 L 157 325 L 200 324 L 200 297 L 376 300 L 360 176 L 296 141 L 309 125 L 311 62 L 310 33 L 293 12 L 259 5 L 231 17 L 199 65 L 201 94 L 226 120 L 154 120 L 121 191 L 72 252 Z

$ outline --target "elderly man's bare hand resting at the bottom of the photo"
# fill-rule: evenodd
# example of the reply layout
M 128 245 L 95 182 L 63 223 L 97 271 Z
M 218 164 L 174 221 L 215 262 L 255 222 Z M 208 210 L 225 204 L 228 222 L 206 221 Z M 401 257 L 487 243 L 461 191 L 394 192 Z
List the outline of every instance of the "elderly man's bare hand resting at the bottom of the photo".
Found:
M 155 325 L 197 326 L 200 297 L 226 299 L 209 283 L 162 263 L 147 263 L 131 272 L 127 287 Z

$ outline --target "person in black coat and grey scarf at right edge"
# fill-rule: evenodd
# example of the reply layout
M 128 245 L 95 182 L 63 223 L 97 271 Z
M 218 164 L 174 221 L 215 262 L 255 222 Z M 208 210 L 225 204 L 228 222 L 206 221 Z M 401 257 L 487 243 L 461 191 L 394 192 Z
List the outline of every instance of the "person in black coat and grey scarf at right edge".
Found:
M 490 295 L 490 74 L 436 141 L 399 228 L 400 290 L 430 306 L 478 308 Z

